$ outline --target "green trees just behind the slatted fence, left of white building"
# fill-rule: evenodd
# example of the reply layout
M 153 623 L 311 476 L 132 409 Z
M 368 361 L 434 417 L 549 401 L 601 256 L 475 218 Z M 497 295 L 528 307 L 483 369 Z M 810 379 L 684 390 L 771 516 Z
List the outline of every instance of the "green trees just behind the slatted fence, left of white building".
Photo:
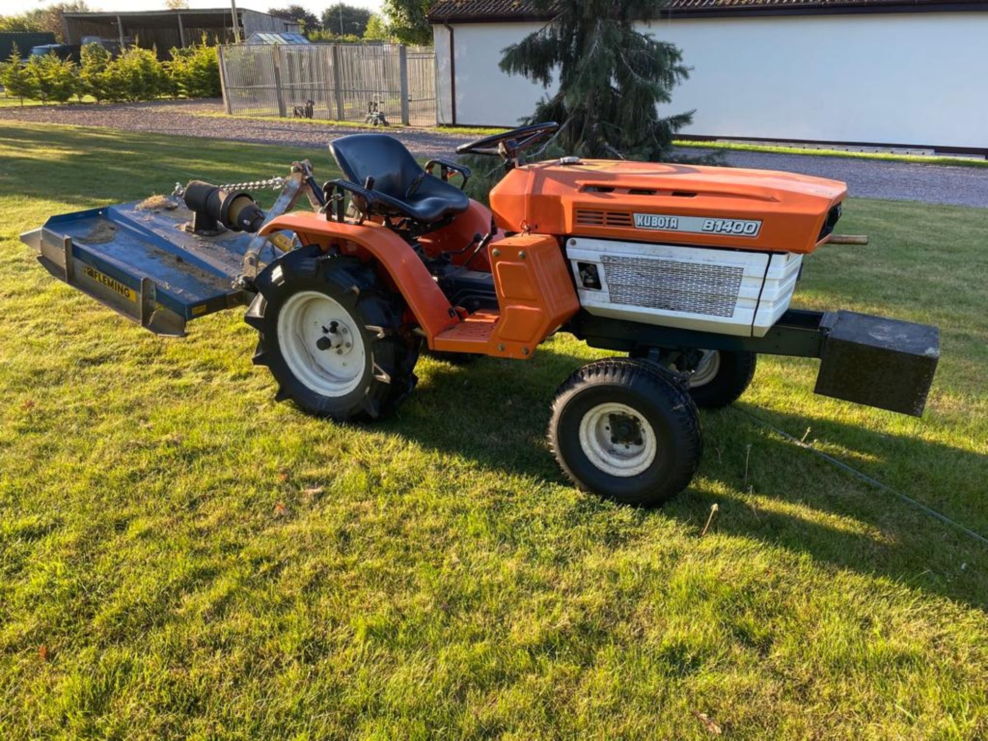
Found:
M 426 11 L 432 0 L 384 0 L 383 14 L 346 3 L 326 8 L 321 16 L 301 5 L 271 8 L 268 13 L 301 26 L 312 41 L 399 41 L 432 43 Z

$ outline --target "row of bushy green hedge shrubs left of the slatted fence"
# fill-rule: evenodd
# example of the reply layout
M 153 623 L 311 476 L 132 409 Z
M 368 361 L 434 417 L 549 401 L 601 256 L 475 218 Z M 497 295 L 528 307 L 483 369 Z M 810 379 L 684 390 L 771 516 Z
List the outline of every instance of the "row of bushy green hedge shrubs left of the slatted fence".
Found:
M 98 43 L 82 47 L 81 63 L 53 54 L 21 60 L 17 47 L 0 64 L 0 85 L 8 97 L 64 103 L 73 95 L 102 101 L 150 101 L 172 98 L 218 98 L 219 59 L 215 46 L 205 43 L 173 48 L 171 60 L 131 46 L 116 59 Z

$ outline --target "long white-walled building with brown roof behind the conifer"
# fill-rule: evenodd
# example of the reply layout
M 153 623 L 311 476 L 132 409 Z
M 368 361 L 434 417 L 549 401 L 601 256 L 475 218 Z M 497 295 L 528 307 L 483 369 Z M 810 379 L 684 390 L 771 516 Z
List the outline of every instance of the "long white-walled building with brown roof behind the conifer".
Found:
M 551 14 L 525 0 L 429 11 L 444 124 L 515 125 L 545 95 L 498 68 Z M 988 152 L 985 0 L 670 0 L 640 30 L 693 67 L 667 113 L 684 133 Z

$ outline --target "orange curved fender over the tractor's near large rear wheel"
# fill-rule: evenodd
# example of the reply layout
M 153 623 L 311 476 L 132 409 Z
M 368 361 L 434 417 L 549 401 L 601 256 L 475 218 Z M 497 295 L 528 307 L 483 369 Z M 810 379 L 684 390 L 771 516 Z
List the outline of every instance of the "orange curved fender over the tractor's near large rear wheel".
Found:
M 369 254 L 383 268 L 391 283 L 404 297 L 429 347 L 436 335 L 459 322 L 453 306 L 411 247 L 385 226 L 364 222 L 362 225 L 330 221 L 313 212 L 286 213 L 264 225 L 259 234 L 288 229 L 302 244 L 318 244 L 323 249 L 336 247 L 344 254 Z

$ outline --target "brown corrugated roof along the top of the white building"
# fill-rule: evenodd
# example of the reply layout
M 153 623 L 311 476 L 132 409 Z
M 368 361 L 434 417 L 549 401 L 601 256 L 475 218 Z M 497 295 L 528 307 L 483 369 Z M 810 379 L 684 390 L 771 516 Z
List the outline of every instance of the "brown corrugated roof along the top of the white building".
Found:
M 741 15 L 745 12 L 772 11 L 784 13 L 833 12 L 861 10 L 924 11 L 924 10 L 967 10 L 985 8 L 984 0 L 669 0 L 662 14 L 704 13 Z M 552 8 L 532 0 L 438 0 L 429 9 L 429 20 L 433 23 L 450 21 L 526 21 L 552 17 Z

